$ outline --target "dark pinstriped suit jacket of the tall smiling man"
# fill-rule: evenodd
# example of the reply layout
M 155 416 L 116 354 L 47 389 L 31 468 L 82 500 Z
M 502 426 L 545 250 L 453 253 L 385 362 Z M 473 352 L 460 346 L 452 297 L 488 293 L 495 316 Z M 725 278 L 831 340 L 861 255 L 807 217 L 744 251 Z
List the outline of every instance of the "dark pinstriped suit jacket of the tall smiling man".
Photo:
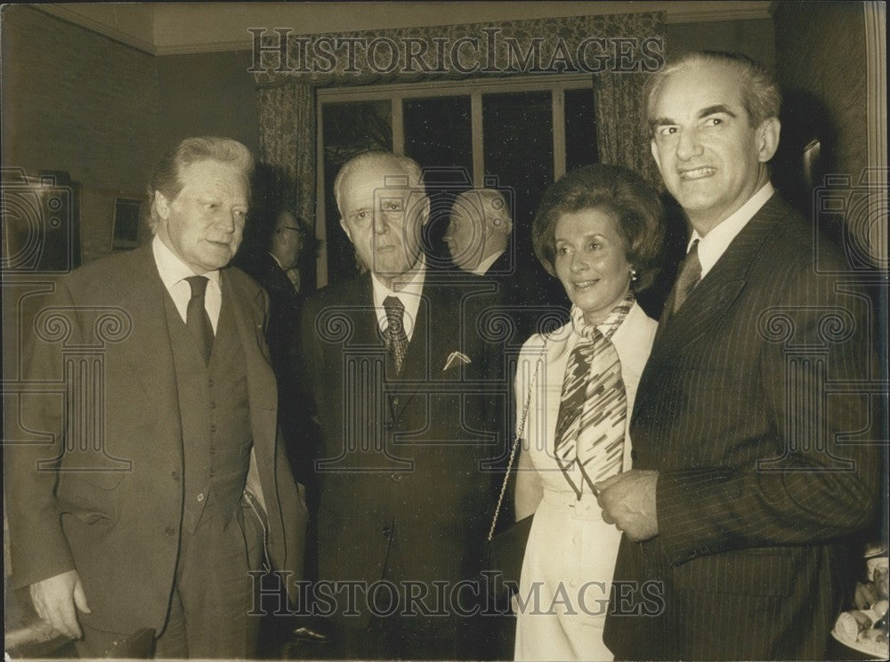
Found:
M 622 541 L 615 580 L 651 583 L 613 600 L 616 658 L 824 658 L 880 460 L 870 302 L 815 250 L 776 194 L 659 327 L 630 432 L 659 535 Z

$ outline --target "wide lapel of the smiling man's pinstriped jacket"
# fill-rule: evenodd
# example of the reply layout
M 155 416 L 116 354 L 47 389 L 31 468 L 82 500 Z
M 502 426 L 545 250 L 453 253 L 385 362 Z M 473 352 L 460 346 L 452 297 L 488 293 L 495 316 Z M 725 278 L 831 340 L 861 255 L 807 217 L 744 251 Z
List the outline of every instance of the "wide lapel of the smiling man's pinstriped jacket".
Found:
M 748 268 L 788 206 L 774 194 L 751 218 L 704 279 L 692 290 L 676 314 L 662 315 L 652 353 L 676 351 L 696 343 L 724 317 L 748 279 Z M 673 291 L 668 299 L 673 297 Z

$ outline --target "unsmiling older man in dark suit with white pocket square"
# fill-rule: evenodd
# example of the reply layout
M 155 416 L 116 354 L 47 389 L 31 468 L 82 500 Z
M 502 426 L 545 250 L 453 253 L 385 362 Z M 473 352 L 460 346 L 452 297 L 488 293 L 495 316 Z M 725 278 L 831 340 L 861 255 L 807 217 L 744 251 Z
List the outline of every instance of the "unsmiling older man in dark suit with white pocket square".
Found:
M 497 482 L 486 461 L 505 446 L 490 433 L 504 421 L 501 357 L 477 326 L 493 287 L 426 268 L 430 204 L 411 159 L 354 157 L 335 193 L 368 271 L 303 309 L 323 432 L 319 577 L 343 588 L 328 601 L 334 657 L 476 658 L 470 617 Z

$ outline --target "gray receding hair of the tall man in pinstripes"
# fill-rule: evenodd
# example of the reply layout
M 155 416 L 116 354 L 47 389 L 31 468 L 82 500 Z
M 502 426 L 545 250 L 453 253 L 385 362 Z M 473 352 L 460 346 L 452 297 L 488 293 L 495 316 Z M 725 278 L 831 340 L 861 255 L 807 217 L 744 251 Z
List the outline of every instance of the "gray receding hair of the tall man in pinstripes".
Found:
M 779 85 L 762 65 L 740 53 L 695 51 L 681 55 L 646 80 L 646 85 L 643 87 L 643 103 L 646 109 L 646 125 L 650 131 L 655 128 L 652 124 L 656 119 L 653 117 L 655 100 L 667 78 L 677 71 L 701 63 L 724 64 L 739 74 L 741 101 L 748 112 L 748 123 L 752 128 L 760 126 L 770 117 L 779 117 L 781 108 Z

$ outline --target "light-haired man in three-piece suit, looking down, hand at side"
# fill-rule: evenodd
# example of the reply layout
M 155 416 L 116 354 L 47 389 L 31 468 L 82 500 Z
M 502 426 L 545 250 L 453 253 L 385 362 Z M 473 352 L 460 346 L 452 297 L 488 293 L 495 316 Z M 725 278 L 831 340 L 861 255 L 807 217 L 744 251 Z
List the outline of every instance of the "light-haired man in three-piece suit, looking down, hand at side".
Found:
M 250 657 L 249 572 L 265 553 L 299 577 L 267 298 L 225 269 L 252 169 L 237 141 L 182 141 L 150 182 L 150 245 L 61 279 L 36 318 L 24 374 L 61 391 L 22 397 L 39 440 L 4 449 L 12 568 L 82 657 L 141 628 L 158 657 Z

